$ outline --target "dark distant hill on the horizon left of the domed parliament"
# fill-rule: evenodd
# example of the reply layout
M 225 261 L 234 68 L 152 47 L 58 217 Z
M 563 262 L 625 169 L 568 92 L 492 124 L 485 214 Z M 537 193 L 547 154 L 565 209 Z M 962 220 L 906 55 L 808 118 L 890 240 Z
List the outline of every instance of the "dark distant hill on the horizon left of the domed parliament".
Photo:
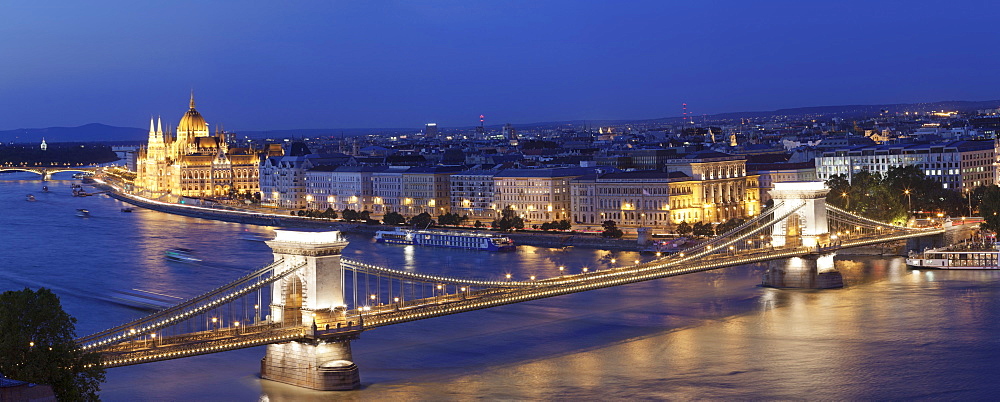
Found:
M 0 141 L 15 143 L 42 142 L 91 142 L 91 141 L 145 141 L 149 130 L 132 127 L 115 127 L 100 123 L 79 127 L 19 128 L 0 130 Z

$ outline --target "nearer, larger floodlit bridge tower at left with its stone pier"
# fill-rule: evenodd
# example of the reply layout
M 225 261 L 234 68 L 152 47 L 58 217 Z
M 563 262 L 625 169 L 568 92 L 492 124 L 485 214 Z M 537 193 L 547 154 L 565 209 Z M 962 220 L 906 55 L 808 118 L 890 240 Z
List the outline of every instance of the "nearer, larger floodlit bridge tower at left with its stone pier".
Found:
M 337 231 L 275 232 L 277 236 L 267 245 L 275 261 L 284 261 L 284 267 L 275 268 L 275 272 L 305 266 L 272 285 L 271 322 L 312 327 L 315 333 L 317 314 L 329 315 L 345 306 L 340 253 L 347 241 Z M 270 344 L 261 361 L 261 377 L 323 391 L 358 388 L 360 376 L 351 356 L 350 339 L 313 337 Z

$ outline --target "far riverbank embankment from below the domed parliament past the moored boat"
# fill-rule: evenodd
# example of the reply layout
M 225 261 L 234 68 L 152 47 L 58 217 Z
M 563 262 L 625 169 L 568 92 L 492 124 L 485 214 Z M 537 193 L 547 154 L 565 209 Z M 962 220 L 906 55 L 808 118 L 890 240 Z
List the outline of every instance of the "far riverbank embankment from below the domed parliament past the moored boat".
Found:
M 356 222 L 336 222 L 323 218 L 308 218 L 302 216 L 269 214 L 259 211 L 240 209 L 220 209 L 194 205 L 174 204 L 151 200 L 120 191 L 109 184 L 94 183 L 94 187 L 107 191 L 108 196 L 138 207 L 169 214 L 189 216 L 192 218 L 212 219 L 224 222 L 243 223 L 249 225 L 278 226 L 285 228 L 330 229 L 347 233 L 374 236 L 379 230 L 389 230 L 388 225 L 369 225 Z M 440 230 L 463 230 L 435 228 Z M 580 233 L 507 233 L 515 244 L 536 247 L 563 248 L 581 247 L 600 250 L 639 251 L 642 247 L 635 240 L 606 239 L 596 235 Z

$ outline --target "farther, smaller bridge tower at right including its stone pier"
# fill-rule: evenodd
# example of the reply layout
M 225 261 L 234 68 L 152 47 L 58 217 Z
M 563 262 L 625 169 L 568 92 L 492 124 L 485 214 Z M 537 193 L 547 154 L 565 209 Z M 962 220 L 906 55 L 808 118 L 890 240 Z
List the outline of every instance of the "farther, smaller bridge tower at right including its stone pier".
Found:
M 774 247 L 814 248 L 830 242 L 826 217 L 826 195 L 830 189 L 820 181 L 774 183 L 771 198 L 783 204 L 775 211 L 788 217 L 774 225 Z M 805 205 L 803 205 L 805 203 Z M 834 266 L 833 253 L 811 254 L 768 263 L 764 286 L 776 288 L 831 289 L 844 287 L 843 276 Z

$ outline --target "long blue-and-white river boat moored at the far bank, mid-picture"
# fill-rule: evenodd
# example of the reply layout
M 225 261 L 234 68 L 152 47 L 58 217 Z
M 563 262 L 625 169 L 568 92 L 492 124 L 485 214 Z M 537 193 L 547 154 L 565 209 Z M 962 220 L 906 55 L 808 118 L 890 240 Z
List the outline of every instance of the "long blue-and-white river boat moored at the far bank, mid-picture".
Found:
M 509 237 L 493 233 L 452 232 L 446 230 L 380 230 L 375 232 L 375 241 L 387 244 L 412 244 L 464 248 L 469 250 L 506 251 L 514 249 L 514 241 Z

